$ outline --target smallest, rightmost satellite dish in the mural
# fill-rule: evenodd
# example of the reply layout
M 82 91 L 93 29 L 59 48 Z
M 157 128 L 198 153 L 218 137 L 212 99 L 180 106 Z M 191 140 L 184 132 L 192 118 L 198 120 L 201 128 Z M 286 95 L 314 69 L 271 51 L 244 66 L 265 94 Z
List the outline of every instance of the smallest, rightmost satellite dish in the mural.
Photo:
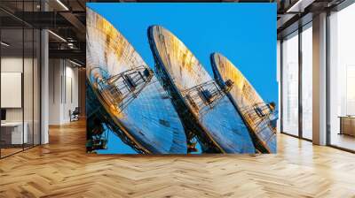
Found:
M 211 55 L 212 69 L 221 87 L 233 81 L 234 86 L 227 94 L 236 110 L 247 124 L 250 136 L 257 150 L 262 153 L 276 153 L 275 103 L 264 103 L 247 78 L 219 53 Z

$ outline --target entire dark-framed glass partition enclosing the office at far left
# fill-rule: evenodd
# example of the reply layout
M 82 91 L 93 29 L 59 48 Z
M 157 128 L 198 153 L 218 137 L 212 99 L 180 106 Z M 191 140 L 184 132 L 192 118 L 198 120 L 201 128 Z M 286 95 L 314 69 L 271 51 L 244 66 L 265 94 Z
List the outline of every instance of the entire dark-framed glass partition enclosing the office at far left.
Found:
M 1 1 L 13 11 L 38 11 L 39 1 Z M 10 13 L 10 12 L 9 12 Z M 40 30 L 0 11 L 0 157 L 40 143 Z

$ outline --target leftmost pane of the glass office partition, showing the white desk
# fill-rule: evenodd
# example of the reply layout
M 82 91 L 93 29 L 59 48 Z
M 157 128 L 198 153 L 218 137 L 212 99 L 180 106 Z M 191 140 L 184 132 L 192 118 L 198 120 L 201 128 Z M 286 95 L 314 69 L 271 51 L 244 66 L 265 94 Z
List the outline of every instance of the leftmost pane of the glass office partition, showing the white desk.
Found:
M 1 155 L 9 156 L 23 149 L 27 133 L 23 133 L 23 66 L 22 28 L 1 30 Z M 6 43 L 4 45 L 4 43 Z

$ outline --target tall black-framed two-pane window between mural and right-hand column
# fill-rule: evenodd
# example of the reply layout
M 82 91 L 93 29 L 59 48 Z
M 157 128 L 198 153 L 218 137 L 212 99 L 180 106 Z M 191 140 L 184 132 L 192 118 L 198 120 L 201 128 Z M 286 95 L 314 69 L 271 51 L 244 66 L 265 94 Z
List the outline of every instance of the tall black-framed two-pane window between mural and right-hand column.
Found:
M 312 22 L 285 37 L 281 49 L 282 133 L 312 141 Z

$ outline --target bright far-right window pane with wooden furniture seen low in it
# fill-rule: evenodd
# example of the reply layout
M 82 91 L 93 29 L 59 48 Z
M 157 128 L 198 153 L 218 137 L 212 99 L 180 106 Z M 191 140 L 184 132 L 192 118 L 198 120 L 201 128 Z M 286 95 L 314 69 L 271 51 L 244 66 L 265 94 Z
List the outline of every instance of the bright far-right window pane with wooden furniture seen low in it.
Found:
M 329 143 L 355 150 L 355 4 L 329 17 Z

